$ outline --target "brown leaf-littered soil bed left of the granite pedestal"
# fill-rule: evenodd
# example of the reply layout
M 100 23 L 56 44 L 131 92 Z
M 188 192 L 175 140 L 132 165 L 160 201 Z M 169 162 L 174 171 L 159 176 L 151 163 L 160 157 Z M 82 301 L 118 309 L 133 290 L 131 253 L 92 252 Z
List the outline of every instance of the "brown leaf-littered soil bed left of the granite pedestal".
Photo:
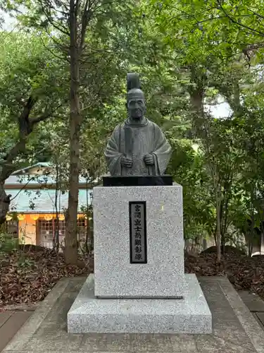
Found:
M 41 247 L 0 253 L 0 309 L 37 303 L 62 277 L 87 275 L 91 266 L 88 258 L 80 258 L 78 266 L 66 265 L 62 254 Z

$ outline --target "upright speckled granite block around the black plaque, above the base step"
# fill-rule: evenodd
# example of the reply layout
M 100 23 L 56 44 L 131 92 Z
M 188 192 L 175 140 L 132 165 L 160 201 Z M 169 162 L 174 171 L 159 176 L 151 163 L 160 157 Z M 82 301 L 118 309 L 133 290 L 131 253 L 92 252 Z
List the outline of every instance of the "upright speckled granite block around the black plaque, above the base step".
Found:
M 146 201 L 146 264 L 130 263 L 129 202 Z M 182 186 L 94 188 L 96 297 L 182 297 Z

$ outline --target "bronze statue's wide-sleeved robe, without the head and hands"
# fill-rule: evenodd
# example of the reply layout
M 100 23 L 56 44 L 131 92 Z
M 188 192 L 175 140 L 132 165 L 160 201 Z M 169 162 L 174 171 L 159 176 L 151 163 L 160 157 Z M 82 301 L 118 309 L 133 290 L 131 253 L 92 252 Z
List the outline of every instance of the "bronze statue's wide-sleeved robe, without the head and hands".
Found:
M 150 153 L 154 164 L 146 166 L 144 155 Z M 128 121 L 115 127 L 106 146 L 105 156 L 110 174 L 113 176 L 162 175 L 168 165 L 171 147 L 161 128 L 145 119 L 142 125 Z M 121 157 L 133 160 L 132 168 L 121 166 Z

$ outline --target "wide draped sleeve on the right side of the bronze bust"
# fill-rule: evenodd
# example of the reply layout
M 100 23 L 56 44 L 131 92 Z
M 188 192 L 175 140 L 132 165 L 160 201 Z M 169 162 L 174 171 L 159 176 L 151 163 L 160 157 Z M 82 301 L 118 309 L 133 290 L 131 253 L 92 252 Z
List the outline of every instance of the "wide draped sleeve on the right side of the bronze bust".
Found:
M 155 124 L 155 149 L 152 154 L 155 160 L 156 175 L 163 175 L 166 171 L 168 163 L 170 162 L 170 156 L 172 148 L 168 140 L 165 138 L 161 128 Z

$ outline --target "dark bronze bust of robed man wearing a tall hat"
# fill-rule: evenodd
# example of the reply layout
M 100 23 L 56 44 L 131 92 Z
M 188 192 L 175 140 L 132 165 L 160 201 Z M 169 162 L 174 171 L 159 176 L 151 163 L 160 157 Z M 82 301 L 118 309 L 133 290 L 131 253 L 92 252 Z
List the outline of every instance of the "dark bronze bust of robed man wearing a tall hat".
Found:
M 112 176 L 163 175 L 171 147 L 161 128 L 147 119 L 144 93 L 136 74 L 127 75 L 128 118 L 115 127 L 105 150 Z

